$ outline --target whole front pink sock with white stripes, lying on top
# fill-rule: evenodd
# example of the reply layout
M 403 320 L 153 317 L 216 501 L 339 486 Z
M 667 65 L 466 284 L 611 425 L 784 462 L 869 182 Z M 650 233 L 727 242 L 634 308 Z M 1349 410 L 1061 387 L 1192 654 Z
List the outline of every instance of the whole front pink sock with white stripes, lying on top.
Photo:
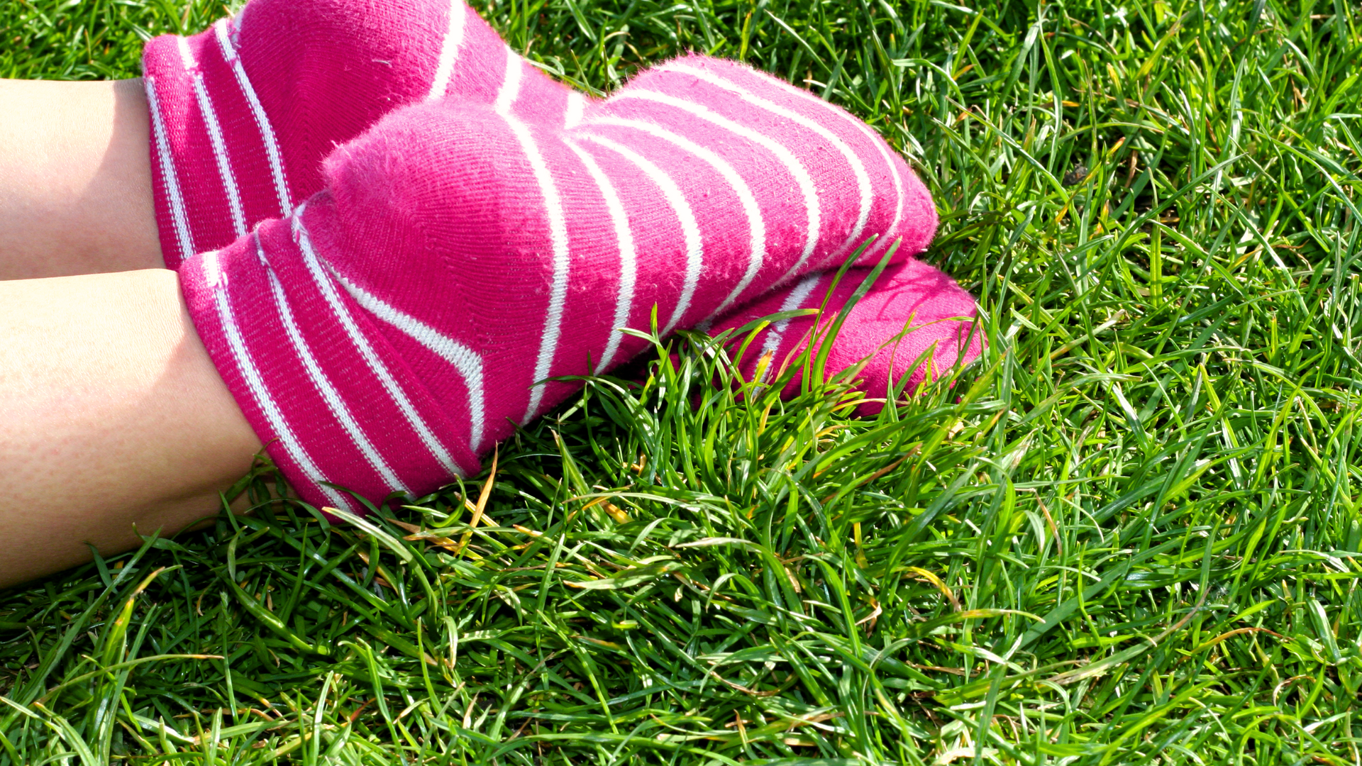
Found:
M 925 192 L 846 112 L 704 57 L 633 79 L 571 129 L 508 110 L 399 110 L 328 189 L 181 269 L 208 352 L 300 495 L 354 510 L 477 470 L 568 397 L 550 376 L 842 259 L 922 248 Z M 862 263 L 878 259 L 880 245 Z

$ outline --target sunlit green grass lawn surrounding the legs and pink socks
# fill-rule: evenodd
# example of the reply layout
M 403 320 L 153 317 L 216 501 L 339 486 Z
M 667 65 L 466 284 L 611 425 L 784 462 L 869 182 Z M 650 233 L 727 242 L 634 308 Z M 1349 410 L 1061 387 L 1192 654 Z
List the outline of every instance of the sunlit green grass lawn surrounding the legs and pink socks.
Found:
M 1362 18 L 997 5 L 482 7 L 584 87 L 696 49 L 865 117 L 985 358 L 855 420 L 678 341 L 507 444 L 478 529 L 485 476 L 266 503 L 0 594 L 0 763 L 1359 763 Z M 219 11 L 11 0 L 0 71 Z

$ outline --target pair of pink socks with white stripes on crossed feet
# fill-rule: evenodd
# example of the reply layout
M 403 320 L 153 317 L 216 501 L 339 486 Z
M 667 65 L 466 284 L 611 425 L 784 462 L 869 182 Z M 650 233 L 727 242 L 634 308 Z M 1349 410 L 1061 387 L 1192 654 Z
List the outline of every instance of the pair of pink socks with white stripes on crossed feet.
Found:
M 642 350 L 620 327 L 654 307 L 663 330 L 719 331 L 820 305 L 819 270 L 870 234 L 862 266 L 903 245 L 832 369 L 888 352 L 866 375 L 885 390 L 918 354 L 876 345 L 910 318 L 937 373 L 978 349 L 956 320 L 972 300 L 907 258 L 936 214 L 902 158 L 738 64 L 680 59 L 587 102 L 462 3 L 255 0 L 148 44 L 146 75 L 168 264 L 242 412 L 319 506 L 358 510 L 330 482 L 383 497 L 475 472 L 573 390 L 538 382 Z M 757 343 L 789 357 L 809 324 Z

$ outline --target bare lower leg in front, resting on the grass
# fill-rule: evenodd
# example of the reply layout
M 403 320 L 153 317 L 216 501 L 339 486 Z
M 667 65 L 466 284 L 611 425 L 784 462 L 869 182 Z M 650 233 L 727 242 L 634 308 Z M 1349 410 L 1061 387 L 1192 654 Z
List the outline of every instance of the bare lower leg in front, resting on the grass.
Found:
M 0 587 L 172 534 L 260 440 L 165 269 L 0 282 Z

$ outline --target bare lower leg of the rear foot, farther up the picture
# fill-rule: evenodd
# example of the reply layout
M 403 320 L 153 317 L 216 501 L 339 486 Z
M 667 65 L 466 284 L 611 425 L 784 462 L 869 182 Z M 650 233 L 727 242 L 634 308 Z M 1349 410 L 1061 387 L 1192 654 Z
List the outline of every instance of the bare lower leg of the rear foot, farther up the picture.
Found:
M 161 269 L 140 79 L 0 79 L 0 279 Z

